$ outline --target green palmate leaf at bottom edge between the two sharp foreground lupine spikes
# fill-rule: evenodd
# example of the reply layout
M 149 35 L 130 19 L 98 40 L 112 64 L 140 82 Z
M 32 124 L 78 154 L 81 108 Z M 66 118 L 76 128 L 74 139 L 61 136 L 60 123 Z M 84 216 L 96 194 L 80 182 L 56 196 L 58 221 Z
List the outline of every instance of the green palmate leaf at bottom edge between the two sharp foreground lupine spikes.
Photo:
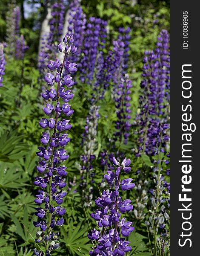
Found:
M 74 227 L 74 224 L 71 221 L 67 231 L 62 227 L 61 232 L 63 237 L 60 240 L 65 243 L 65 246 L 69 250 L 69 255 L 88 255 L 91 247 L 90 244 L 87 244 L 88 227 L 83 226 L 83 223 L 79 223 L 77 227 Z

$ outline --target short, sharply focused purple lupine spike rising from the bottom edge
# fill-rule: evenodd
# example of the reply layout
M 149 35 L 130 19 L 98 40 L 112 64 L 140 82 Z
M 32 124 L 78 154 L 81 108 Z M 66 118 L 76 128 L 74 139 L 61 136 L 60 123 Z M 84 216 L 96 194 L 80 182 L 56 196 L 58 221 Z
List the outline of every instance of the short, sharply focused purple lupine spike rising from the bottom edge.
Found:
M 114 186 L 114 191 L 104 190 L 102 196 L 95 200 L 98 209 L 91 213 L 91 217 L 98 221 L 98 227 L 102 229 L 101 234 L 96 229 L 91 230 L 88 234 L 88 238 L 96 240 L 97 243 L 89 252 L 91 256 L 123 256 L 131 250 L 130 242 L 126 241 L 123 236 L 129 236 L 134 227 L 131 226 L 132 222 L 121 218 L 121 213 L 131 211 L 133 206 L 130 199 L 123 201 L 119 194 L 120 188 L 126 191 L 135 186 L 134 183 L 131 183 L 131 178 L 120 180 L 121 171 L 130 172 L 131 161 L 124 158 L 120 164 L 115 157 L 112 161 L 116 166 L 116 171 L 107 171 L 108 174 L 104 177 L 110 186 Z

